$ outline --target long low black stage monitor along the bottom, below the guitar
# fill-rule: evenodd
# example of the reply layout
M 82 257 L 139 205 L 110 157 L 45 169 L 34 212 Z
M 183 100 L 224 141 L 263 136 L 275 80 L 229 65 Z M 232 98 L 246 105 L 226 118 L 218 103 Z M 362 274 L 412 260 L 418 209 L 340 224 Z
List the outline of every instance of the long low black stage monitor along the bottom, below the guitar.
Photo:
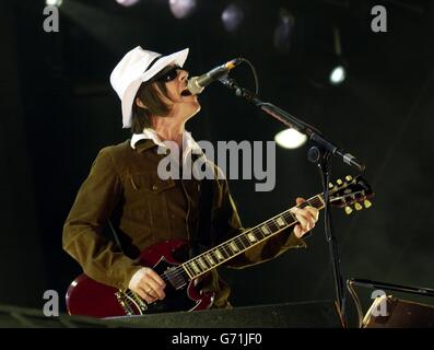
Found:
M 39 310 L 0 305 L 0 328 L 339 328 L 333 302 L 301 302 L 273 305 L 125 316 L 96 319 L 46 317 Z

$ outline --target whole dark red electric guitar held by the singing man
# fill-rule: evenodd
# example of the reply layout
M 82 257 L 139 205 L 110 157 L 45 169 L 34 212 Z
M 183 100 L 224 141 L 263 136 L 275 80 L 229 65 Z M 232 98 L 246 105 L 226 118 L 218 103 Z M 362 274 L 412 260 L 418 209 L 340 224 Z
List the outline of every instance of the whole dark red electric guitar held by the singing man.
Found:
M 368 199 L 374 196 L 371 186 L 360 176 L 338 179 L 336 185 L 330 184 L 329 194 L 330 205 L 344 207 L 348 214 L 352 211 L 350 206 L 354 206 L 356 210 L 363 208 L 361 202 L 366 208 L 371 207 Z M 324 203 L 324 196 L 319 194 L 298 207 L 322 209 Z M 178 262 L 174 258 L 175 252 L 185 247 L 184 241 L 165 241 L 144 249 L 140 255 L 140 264 L 152 267 L 166 282 L 166 298 L 162 301 L 149 304 L 131 290 L 118 290 L 98 283 L 83 273 L 68 289 L 68 312 L 71 315 L 110 317 L 209 308 L 214 294 L 197 289 L 200 277 L 282 230 L 295 225 L 298 221 L 290 210 L 185 262 Z

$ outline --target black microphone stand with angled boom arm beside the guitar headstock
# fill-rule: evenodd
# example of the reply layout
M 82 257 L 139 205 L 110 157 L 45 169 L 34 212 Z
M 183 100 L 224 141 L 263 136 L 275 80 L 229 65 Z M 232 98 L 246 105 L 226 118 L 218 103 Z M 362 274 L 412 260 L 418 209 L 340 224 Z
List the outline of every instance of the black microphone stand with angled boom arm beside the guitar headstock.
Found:
M 361 162 L 359 162 L 355 156 L 344 152 L 342 149 L 338 148 L 336 144 L 327 140 L 321 135 L 321 132 L 318 131 L 316 128 L 306 124 L 303 120 L 300 120 L 298 118 L 292 116 L 288 112 L 274 106 L 271 103 L 262 102 L 253 92 L 238 86 L 236 81 L 234 79 L 230 79 L 227 74 L 220 78 L 219 81 L 230 90 L 234 90 L 235 94 L 238 97 L 244 97 L 248 102 L 255 104 L 257 107 L 259 107 L 262 112 L 265 112 L 269 116 L 283 122 L 285 126 L 306 135 L 314 143 L 314 145 L 307 152 L 307 159 L 310 162 L 317 164 L 320 171 L 321 183 L 324 188 L 324 200 L 325 200 L 324 223 L 325 223 L 326 238 L 329 245 L 329 254 L 333 268 L 335 290 L 337 295 L 336 306 L 342 326 L 347 327 L 347 317 L 345 317 L 345 308 L 344 308 L 345 295 L 343 288 L 344 283 L 340 268 L 338 240 L 333 233 L 332 224 L 331 224 L 329 186 L 328 186 L 329 175 L 330 175 L 329 160 L 331 155 L 335 155 L 337 158 L 340 158 L 344 163 L 355 167 L 360 172 L 364 171 L 365 166 Z

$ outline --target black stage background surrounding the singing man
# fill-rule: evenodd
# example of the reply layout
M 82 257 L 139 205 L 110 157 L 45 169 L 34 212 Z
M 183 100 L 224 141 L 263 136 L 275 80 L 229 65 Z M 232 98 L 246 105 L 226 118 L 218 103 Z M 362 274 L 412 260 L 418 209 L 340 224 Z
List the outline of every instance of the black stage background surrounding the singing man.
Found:
M 61 248 L 62 225 L 97 151 L 129 137 L 108 78 L 137 45 L 163 54 L 189 47 L 191 74 L 233 57 L 249 59 L 263 100 L 315 125 L 367 165 L 372 209 L 351 217 L 333 211 L 344 278 L 434 287 L 433 3 L 238 1 L 244 21 L 227 33 L 220 15 L 228 3 L 198 1 L 191 16 L 177 20 L 167 1 L 124 8 L 63 0 L 60 32 L 46 33 L 44 1 L 1 1 L 1 304 L 40 307 L 44 291 L 52 289 L 64 311 L 64 292 L 80 267 Z M 375 4 L 388 11 L 387 33 L 371 31 Z M 273 46 L 281 9 L 295 20 L 286 49 Z M 339 86 L 321 81 L 332 59 L 332 25 L 348 62 Z M 247 66 L 233 77 L 253 89 Z M 197 140 L 266 141 L 283 129 L 220 84 L 200 100 L 202 112 L 188 124 Z M 255 180 L 231 182 L 246 226 L 321 190 L 307 150 L 278 148 L 273 191 L 256 192 Z M 333 178 L 355 174 L 338 159 L 331 164 Z M 222 269 L 233 304 L 332 299 L 322 220 L 307 243 L 308 249 L 249 269 Z M 361 293 L 368 306 L 371 291 Z M 352 313 L 350 300 L 349 307 Z

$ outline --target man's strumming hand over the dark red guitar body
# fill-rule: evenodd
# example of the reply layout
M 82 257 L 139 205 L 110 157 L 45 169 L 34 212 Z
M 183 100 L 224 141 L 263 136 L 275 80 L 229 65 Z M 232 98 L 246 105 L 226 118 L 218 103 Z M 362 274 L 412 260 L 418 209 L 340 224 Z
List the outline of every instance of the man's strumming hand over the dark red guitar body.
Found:
M 138 293 L 148 303 L 153 303 L 156 300 L 163 300 L 166 294 L 164 288 L 166 283 L 152 269 L 143 267 L 137 271 L 128 285 L 130 290 Z

